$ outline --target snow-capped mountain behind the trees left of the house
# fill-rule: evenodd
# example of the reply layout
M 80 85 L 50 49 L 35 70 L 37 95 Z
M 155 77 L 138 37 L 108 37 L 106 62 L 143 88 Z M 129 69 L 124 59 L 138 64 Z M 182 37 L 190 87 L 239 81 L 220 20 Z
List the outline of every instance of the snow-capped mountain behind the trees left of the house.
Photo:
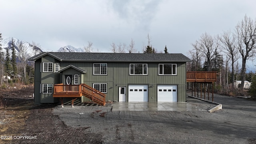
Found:
M 9 54 L 11 55 L 12 50 L 10 49 L 12 38 L 2 36 L 3 40 L 1 41 L 2 44 L 2 50 L 4 54 L 6 54 L 6 49 L 9 49 Z M 25 50 L 25 54 L 28 56 L 28 58 L 39 54 L 43 52 L 41 48 L 33 47 L 29 42 L 26 42 L 24 40 L 19 40 L 17 38 L 13 38 L 14 40 L 14 47 L 16 48 L 16 55 L 20 54 L 20 46 L 22 46 L 23 50 Z

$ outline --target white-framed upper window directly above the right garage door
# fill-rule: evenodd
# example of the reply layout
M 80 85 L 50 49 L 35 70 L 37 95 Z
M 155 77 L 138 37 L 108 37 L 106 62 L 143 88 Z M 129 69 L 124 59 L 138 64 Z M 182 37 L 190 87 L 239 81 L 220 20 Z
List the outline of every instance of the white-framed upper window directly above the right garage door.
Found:
M 158 64 L 159 75 L 177 75 L 177 64 Z

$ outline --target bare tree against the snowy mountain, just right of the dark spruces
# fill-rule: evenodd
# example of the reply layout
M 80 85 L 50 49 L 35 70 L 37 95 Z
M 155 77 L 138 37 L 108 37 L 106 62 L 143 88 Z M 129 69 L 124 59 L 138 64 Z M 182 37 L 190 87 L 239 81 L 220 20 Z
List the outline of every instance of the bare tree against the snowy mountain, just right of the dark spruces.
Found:
M 26 66 L 27 66 L 27 62 L 28 62 L 28 53 L 27 53 L 27 47 L 24 46 L 22 44 L 22 42 L 19 43 L 18 45 L 18 48 L 19 48 L 19 54 L 18 54 L 18 58 L 21 62 L 21 65 L 23 67 L 23 73 L 24 73 L 24 79 L 26 80 Z

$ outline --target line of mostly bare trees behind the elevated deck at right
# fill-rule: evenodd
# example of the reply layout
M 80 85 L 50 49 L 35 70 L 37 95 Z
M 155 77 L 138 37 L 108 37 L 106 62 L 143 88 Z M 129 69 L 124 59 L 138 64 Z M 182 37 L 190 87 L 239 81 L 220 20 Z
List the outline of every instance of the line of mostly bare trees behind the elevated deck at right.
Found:
M 245 15 L 234 30 L 226 30 L 216 36 L 205 32 L 191 45 L 193 49 L 189 54 L 192 62 L 188 64 L 188 71 L 217 71 L 217 84 L 227 91 L 235 88 L 235 80 L 241 80 L 242 92 L 248 77 L 246 64 L 253 60 L 256 52 L 256 20 Z M 242 66 L 239 65 L 240 60 Z

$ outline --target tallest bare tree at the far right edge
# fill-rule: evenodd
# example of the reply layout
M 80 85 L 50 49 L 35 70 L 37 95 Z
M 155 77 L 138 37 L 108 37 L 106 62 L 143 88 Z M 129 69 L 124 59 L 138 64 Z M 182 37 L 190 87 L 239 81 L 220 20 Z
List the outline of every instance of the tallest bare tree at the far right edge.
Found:
M 246 72 L 246 61 L 253 58 L 256 52 L 256 21 L 246 15 L 236 26 L 236 36 L 238 40 L 238 51 L 242 57 L 241 70 L 241 91 L 244 89 Z

